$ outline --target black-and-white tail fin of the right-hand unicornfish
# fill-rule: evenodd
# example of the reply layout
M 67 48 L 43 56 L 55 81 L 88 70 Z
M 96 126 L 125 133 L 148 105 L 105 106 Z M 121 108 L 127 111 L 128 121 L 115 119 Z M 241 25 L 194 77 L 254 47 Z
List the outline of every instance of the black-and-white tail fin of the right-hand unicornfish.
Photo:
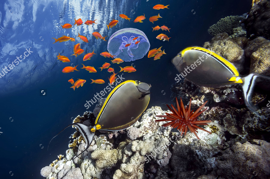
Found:
M 251 98 L 253 94 L 253 88 L 255 86 L 256 78 L 259 77 L 259 75 L 255 73 L 250 73 L 249 75 L 242 78 L 242 89 L 244 94 L 244 101 L 247 106 L 247 108 L 252 111 L 253 113 L 257 113 L 257 108 L 251 103 Z

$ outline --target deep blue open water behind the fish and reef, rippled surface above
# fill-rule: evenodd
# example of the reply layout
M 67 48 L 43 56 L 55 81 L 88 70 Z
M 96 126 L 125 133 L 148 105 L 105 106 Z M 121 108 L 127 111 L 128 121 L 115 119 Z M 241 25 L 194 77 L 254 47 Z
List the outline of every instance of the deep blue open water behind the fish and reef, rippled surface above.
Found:
M 170 87 L 175 83 L 177 74 L 171 59 L 188 46 L 202 46 L 209 41 L 211 36 L 207 29 L 220 18 L 242 15 L 251 8 L 251 0 L 2 0 L 0 4 L 0 69 L 11 64 L 26 48 L 31 47 L 30 50 L 33 51 L 0 79 L 0 178 L 12 179 L 43 178 L 40 175 L 41 168 L 57 159 L 57 155 L 65 155 L 70 140 L 68 137 L 74 129 L 68 128 L 55 137 L 47 151 L 51 138 L 72 123 L 72 117 L 82 115 L 86 110 L 93 111 L 95 105 L 85 108 L 86 100 L 91 100 L 94 94 L 108 85 L 111 73 L 98 69 L 103 63 L 110 62 L 108 58 L 99 55 L 107 51 L 107 42 L 95 39 L 92 32 L 98 31 L 101 35 L 110 37 L 119 29 L 137 28 L 148 37 L 150 49 L 163 46 L 167 55 L 159 60 L 154 61 L 146 55 L 134 62 L 111 66 L 119 71 L 118 66 L 130 66 L 133 63 L 137 72 L 124 72 L 122 77 L 125 80 L 150 83 L 152 94 L 148 108 L 164 107 L 165 104 L 172 103 Z M 154 10 L 153 6 L 157 4 L 170 5 L 170 9 Z M 149 17 L 158 13 L 163 18 L 154 24 L 149 22 Z M 132 19 L 129 22 L 120 18 L 119 14 L 126 14 Z M 137 16 L 143 14 L 146 16 L 143 23 L 133 22 Z M 83 22 L 97 19 L 97 24 L 61 28 L 60 24 L 73 25 L 74 18 L 81 18 Z M 106 24 L 112 19 L 119 20 L 119 23 L 108 30 Z M 168 26 L 171 28 L 170 33 L 162 30 L 152 32 L 152 27 L 157 25 Z M 78 32 L 86 36 L 89 43 L 76 38 Z M 155 38 L 163 32 L 171 37 L 169 42 Z M 52 37 L 67 34 L 75 38 L 76 42 L 52 44 Z M 77 58 L 70 57 L 73 54 L 73 45 L 77 43 L 81 43 L 85 52 Z M 94 66 L 97 73 L 88 73 L 79 68 L 79 72 L 61 72 L 71 63 L 80 64 L 78 67 L 81 67 L 84 54 L 93 50 L 97 55 L 83 64 Z M 56 60 L 58 52 L 70 57 L 71 62 L 62 63 Z M 73 91 L 67 82 L 72 77 L 85 79 L 86 83 Z M 90 78 L 104 79 L 105 83 L 90 84 Z M 46 95 L 41 95 L 41 90 Z

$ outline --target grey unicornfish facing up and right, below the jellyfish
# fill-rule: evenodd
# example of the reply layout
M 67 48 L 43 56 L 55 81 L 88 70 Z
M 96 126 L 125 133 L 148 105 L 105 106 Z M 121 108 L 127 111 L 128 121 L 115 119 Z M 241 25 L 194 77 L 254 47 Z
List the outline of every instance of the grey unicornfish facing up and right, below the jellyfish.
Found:
M 150 88 L 150 84 L 140 81 L 122 82 L 106 98 L 93 127 L 78 122 L 68 125 L 74 125 L 82 134 L 87 146 L 82 153 L 90 146 L 96 130 L 118 131 L 133 125 L 148 106 Z

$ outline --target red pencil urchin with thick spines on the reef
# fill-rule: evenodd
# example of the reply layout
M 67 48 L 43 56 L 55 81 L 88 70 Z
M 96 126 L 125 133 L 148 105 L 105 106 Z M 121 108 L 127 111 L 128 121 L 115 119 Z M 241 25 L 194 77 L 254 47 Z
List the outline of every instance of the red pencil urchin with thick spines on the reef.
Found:
M 157 122 L 160 121 L 170 121 L 162 126 L 167 127 L 167 126 L 171 126 L 172 128 L 177 128 L 177 130 L 180 131 L 180 135 L 182 135 L 183 133 L 187 133 L 187 128 L 193 132 L 197 139 L 199 139 L 199 137 L 197 136 L 196 132 L 197 129 L 201 129 L 205 132 L 208 132 L 209 134 L 211 134 L 211 132 L 206 131 L 203 128 L 200 128 L 197 125 L 208 125 L 206 123 L 211 122 L 211 121 L 198 121 L 197 117 L 202 114 L 205 110 L 207 110 L 207 108 L 205 108 L 204 110 L 200 111 L 203 106 L 205 106 L 205 104 L 207 103 L 207 101 L 205 101 L 205 103 L 202 104 L 202 106 L 200 106 L 194 113 L 193 110 L 190 111 L 190 104 L 191 104 L 191 98 L 190 98 L 190 102 L 189 102 L 189 106 L 187 106 L 186 108 L 184 108 L 184 104 L 182 101 L 182 98 L 180 98 L 180 106 L 178 103 L 178 100 L 176 98 L 176 105 L 177 105 L 177 110 L 175 109 L 175 107 L 172 105 L 172 108 L 170 108 L 170 106 L 167 104 L 168 108 L 170 109 L 170 111 L 172 113 L 165 113 L 166 115 L 161 115 L 161 116 L 156 116 L 156 117 L 164 117 L 166 119 L 158 119 L 155 120 Z M 199 112 L 200 111 L 200 112 Z

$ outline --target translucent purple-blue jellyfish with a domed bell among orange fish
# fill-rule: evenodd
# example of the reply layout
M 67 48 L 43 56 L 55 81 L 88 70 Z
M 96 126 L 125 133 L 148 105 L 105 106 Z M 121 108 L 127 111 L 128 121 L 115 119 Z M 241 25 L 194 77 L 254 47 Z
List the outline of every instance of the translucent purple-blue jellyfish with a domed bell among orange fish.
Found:
M 149 51 L 149 48 L 150 43 L 146 35 L 139 29 L 134 28 L 116 31 L 108 41 L 108 51 L 110 54 L 124 61 L 134 61 L 143 58 Z

